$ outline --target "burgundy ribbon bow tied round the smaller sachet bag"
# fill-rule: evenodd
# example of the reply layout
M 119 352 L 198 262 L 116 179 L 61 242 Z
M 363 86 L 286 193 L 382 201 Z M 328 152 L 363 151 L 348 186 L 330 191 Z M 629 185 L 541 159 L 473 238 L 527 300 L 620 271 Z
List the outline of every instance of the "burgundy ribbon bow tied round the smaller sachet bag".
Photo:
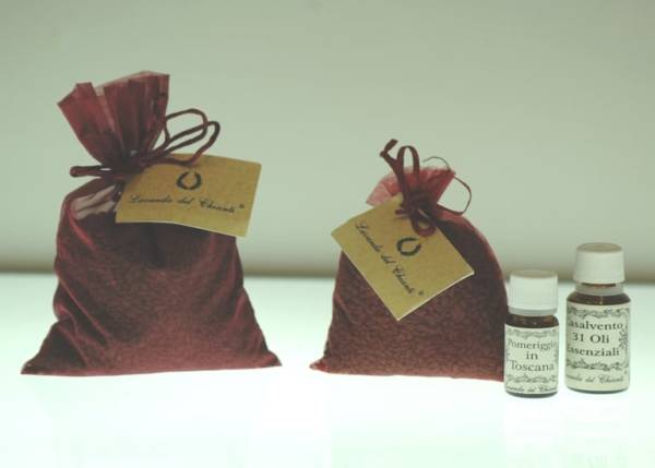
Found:
M 431 236 L 434 233 L 437 224 L 443 212 L 455 215 L 462 215 L 466 212 L 473 196 L 471 188 L 460 178 L 455 177 L 455 172 L 450 167 L 439 171 L 434 177 L 421 179 L 420 160 L 416 148 L 409 145 L 401 146 L 394 158 L 389 152 L 393 149 L 396 143 L 397 140 L 390 140 L 384 149 L 380 152 L 380 156 L 391 166 L 391 169 L 395 173 L 401 193 L 403 194 L 403 202 L 396 214 L 408 216 L 412 227 L 417 235 L 424 237 Z M 413 183 L 409 183 L 407 180 L 407 172 L 405 171 L 405 152 L 412 154 Z M 454 211 L 439 204 L 439 199 L 453 179 L 462 183 L 468 192 L 468 202 L 462 211 Z

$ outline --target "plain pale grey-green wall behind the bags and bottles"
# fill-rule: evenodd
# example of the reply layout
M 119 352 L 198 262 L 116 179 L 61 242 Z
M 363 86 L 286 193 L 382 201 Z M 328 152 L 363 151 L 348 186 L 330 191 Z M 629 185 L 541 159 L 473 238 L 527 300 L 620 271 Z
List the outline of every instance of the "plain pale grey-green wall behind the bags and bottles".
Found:
M 169 110 L 223 123 L 214 154 L 263 164 L 247 273 L 333 273 L 397 137 L 472 185 L 505 271 L 569 277 L 599 240 L 653 280 L 654 24 L 647 0 L 0 0 L 0 269 L 50 268 L 69 167 L 94 163 L 56 103 L 154 70 Z

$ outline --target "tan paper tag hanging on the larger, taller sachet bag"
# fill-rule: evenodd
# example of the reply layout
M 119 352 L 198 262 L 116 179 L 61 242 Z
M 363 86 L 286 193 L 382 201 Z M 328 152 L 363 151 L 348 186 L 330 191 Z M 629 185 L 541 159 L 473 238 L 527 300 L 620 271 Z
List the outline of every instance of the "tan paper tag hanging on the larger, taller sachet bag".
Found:
M 116 223 L 172 223 L 243 237 L 260 171 L 258 163 L 206 155 L 189 167 L 151 166 L 126 184 Z

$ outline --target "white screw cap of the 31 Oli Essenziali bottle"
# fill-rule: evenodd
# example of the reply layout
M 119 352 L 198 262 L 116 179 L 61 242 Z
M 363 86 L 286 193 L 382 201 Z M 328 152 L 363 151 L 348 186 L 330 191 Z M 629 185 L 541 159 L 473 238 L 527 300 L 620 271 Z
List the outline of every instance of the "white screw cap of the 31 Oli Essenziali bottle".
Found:
M 623 283 L 623 249 L 615 243 L 583 243 L 575 252 L 573 280 L 592 285 Z

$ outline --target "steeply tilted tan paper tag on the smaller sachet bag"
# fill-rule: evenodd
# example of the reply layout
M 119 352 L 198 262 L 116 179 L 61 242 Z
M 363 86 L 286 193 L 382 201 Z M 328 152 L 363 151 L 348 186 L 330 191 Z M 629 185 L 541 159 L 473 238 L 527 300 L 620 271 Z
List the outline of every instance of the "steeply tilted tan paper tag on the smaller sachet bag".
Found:
M 401 201 L 396 195 L 332 232 L 396 320 L 474 274 L 443 232 L 418 236 L 396 215 Z

